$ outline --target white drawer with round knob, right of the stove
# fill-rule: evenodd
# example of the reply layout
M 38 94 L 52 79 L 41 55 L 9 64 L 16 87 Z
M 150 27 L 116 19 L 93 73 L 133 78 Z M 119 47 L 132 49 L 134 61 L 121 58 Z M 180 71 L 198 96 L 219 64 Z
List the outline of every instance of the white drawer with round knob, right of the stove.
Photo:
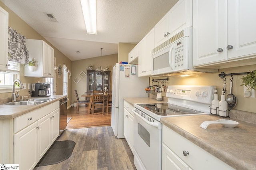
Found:
M 234 170 L 231 166 L 216 158 L 209 152 L 200 148 L 196 144 L 190 142 L 180 134 L 174 132 L 170 128 L 163 125 L 163 143 L 172 150 L 180 159 L 182 159 L 188 166 L 194 170 Z M 187 156 L 183 155 L 183 151 L 189 152 Z

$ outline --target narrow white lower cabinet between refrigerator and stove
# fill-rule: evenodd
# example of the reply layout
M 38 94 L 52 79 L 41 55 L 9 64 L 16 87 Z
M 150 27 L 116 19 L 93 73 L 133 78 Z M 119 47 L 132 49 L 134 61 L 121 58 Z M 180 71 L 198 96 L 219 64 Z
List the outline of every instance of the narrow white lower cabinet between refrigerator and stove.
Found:
M 134 151 L 133 149 L 133 113 L 132 109 L 134 107 L 130 105 L 128 102 L 124 101 L 124 137 L 130 146 L 130 149 L 132 150 L 132 153 Z

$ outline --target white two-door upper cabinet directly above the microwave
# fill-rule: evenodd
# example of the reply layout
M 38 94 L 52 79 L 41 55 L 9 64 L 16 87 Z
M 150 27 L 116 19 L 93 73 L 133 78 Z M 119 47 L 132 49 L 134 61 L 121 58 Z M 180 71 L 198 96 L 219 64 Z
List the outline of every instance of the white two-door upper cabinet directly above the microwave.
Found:
M 155 47 L 192 26 L 192 0 L 179 0 L 155 26 Z

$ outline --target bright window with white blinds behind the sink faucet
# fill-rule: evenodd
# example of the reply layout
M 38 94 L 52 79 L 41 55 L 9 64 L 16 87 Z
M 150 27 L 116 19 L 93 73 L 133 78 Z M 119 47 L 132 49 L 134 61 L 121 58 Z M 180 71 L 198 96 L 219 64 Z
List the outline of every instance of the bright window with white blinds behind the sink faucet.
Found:
M 8 61 L 8 71 L 0 71 L 0 93 L 12 91 L 12 82 L 20 78 L 20 63 Z

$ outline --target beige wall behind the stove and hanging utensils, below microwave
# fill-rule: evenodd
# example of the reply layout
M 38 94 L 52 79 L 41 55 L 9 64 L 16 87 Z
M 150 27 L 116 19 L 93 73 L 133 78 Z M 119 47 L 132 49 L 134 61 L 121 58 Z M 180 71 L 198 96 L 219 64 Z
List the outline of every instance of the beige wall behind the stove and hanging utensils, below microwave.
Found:
M 242 67 L 233 67 L 233 68 L 226 68 L 226 69 L 220 69 L 219 73 L 222 71 L 226 74 L 228 73 L 244 73 L 253 71 L 256 69 L 256 65 L 247 65 Z M 169 77 L 169 85 L 214 85 L 217 87 L 217 91 L 219 94 L 219 100 L 220 100 L 220 94 L 222 93 L 223 88 L 223 79 L 221 79 L 218 74 L 219 73 L 205 73 L 201 76 L 193 76 L 193 77 Z M 233 75 L 234 81 L 233 81 L 233 94 L 238 99 L 238 103 L 234 109 L 241 110 L 241 111 L 248 111 L 256 113 L 256 98 L 246 98 L 243 95 L 243 86 L 240 86 L 242 84 L 242 76 L 246 75 Z M 152 78 L 152 77 L 151 77 Z M 154 79 L 159 79 L 161 77 L 153 77 Z M 164 77 L 166 78 L 166 77 Z M 230 90 L 230 76 L 226 76 L 226 87 L 227 87 L 227 94 L 229 94 Z M 157 83 L 154 83 L 157 84 Z M 166 93 L 163 92 L 163 95 L 165 96 Z

